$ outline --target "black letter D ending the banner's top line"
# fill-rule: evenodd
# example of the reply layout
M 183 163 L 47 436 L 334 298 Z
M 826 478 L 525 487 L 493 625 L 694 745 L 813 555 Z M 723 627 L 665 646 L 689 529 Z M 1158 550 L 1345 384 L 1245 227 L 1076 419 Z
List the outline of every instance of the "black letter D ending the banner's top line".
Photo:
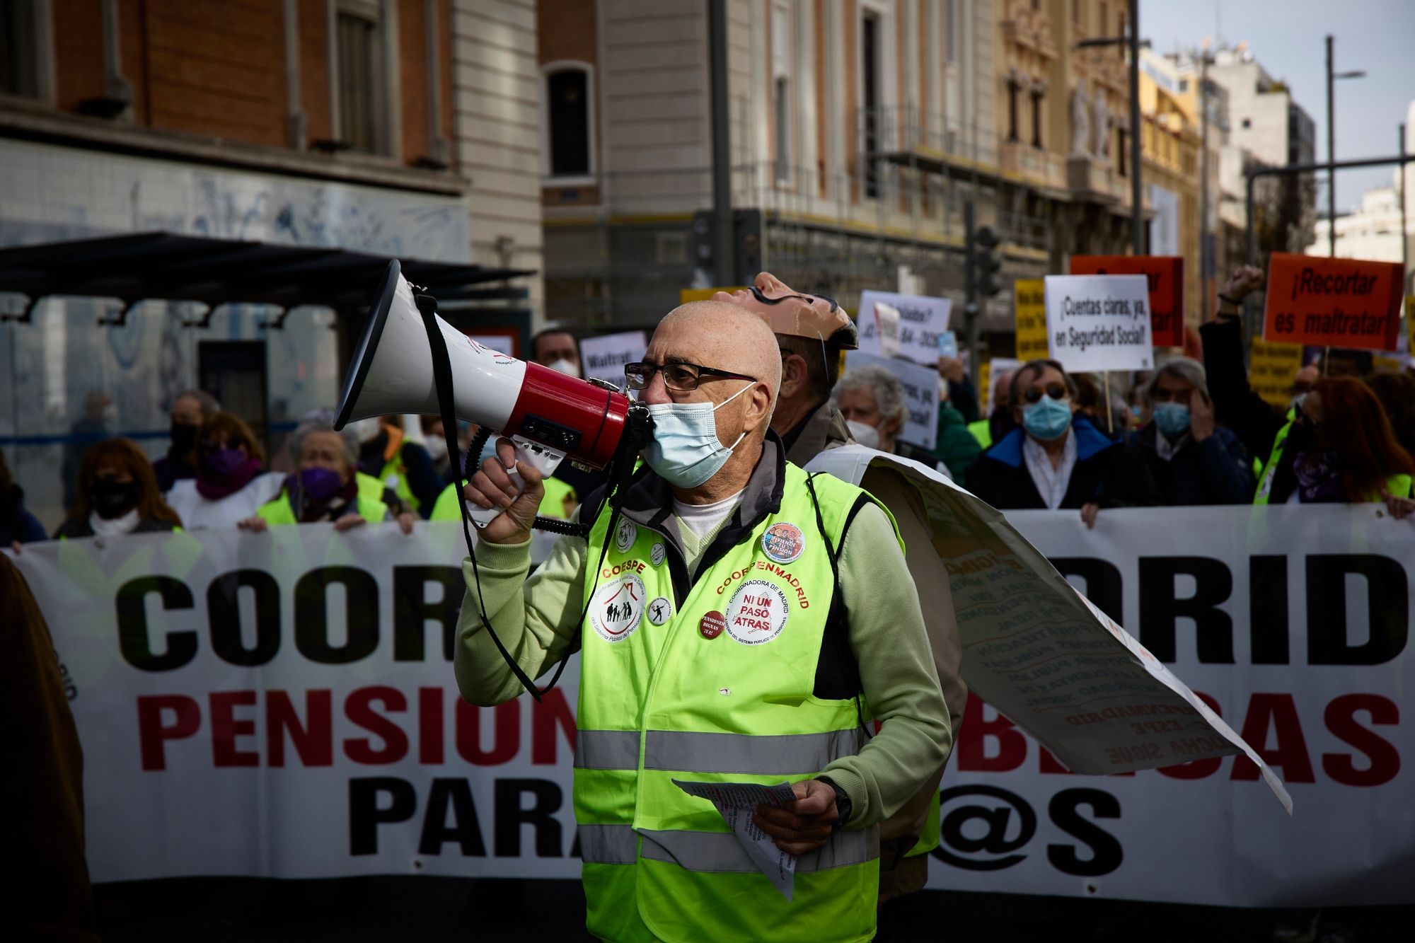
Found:
M 1371 637 L 1347 643 L 1346 578 L 1365 579 Z M 1310 664 L 1382 664 L 1405 650 L 1409 599 L 1405 568 L 1377 554 L 1307 555 L 1307 661 Z

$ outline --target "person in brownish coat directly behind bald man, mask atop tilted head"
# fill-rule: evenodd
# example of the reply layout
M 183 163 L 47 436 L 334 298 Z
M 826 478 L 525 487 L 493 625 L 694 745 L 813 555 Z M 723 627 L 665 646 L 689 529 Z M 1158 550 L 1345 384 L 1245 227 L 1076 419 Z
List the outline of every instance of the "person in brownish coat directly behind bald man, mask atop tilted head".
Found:
M 802 295 L 770 272 L 757 275 L 751 289 L 733 292 L 723 300 L 754 312 L 775 333 L 781 347 L 781 389 L 771 413 L 771 429 L 782 442 L 794 445 L 787 460 L 809 463 L 821 452 L 845 445 L 829 436 L 805 433 L 812 423 L 828 429 L 824 416 L 839 416 L 832 394 L 841 382 L 839 348 L 853 348 L 859 340 L 855 324 L 831 299 Z M 815 419 L 821 416 L 822 419 Z M 842 416 L 843 418 L 843 416 Z M 853 428 L 856 423 L 850 422 Z M 985 423 L 986 425 L 986 423 Z M 870 429 L 873 432 L 873 429 Z M 862 442 L 862 445 L 866 445 Z M 890 508 L 899 522 L 900 535 L 908 547 L 930 547 L 932 528 L 928 513 L 918 497 L 918 488 L 901 474 L 872 466 L 860 484 Z M 906 556 L 914 586 L 918 590 L 924 626 L 934 657 L 934 670 L 942 687 L 948 721 L 958 733 L 962 724 L 968 687 L 962 673 L 962 641 L 954 616 L 948 572 L 935 554 L 916 552 Z M 924 888 L 928 881 L 928 852 L 938 847 L 938 783 L 940 767 L 920 791 L 899 811 L 880 823 L 880 903 L 887 903 Z M 887 922 L 890 913 L 882 918 Z

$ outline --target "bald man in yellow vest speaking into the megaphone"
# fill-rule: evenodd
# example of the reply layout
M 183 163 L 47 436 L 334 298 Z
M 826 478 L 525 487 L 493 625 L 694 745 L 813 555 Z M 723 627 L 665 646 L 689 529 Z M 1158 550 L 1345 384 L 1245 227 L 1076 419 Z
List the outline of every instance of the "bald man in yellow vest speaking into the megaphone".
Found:
M 580 650 L 574 814 L 594 936 L 869 940 L 877 825 L 952 743 L 893 520 L 785 460 L 781 354 L 751 312 L 678 307 L 625 374 L 654 416 L 644 467 L 617 511 L 591 494 L 576 513 L 589 537 L 560 538 L 533 576 L 541 476 L 518 463 L 516 494 L 501 439 L 466 486 L 505 513 L 481 531 L 480 599 L 463 568 L 461 695 L 521 694 L 483 609 L 533 678 Z M 751 814 L 792 857 L 790 893 L 674 780 L 790 782 L 792 801 Z

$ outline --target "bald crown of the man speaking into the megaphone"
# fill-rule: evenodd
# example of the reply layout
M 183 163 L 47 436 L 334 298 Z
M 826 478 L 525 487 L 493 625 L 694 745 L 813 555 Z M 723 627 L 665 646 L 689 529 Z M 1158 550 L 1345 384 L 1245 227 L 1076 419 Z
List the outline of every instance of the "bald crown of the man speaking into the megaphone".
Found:
M 781 350 L 771 327 L 753 312 L 732 302 L 689 302 L 658 323 L 651 350 L 661 337 L 672 347 L 664 354 L 754 377 L 770 388 L 775 404 L 781 389 Z M 683 353 L 685 347 L 695 353 Z

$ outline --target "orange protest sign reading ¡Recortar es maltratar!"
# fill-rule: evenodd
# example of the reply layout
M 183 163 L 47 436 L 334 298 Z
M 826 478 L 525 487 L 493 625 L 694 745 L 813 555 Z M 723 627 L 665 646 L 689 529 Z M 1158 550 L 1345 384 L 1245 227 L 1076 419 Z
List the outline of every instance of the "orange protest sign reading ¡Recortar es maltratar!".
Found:
M 1262 336 L 1285 344 L 1395 350 L 1402 276 L 1399 262 L 1274 252 Z

